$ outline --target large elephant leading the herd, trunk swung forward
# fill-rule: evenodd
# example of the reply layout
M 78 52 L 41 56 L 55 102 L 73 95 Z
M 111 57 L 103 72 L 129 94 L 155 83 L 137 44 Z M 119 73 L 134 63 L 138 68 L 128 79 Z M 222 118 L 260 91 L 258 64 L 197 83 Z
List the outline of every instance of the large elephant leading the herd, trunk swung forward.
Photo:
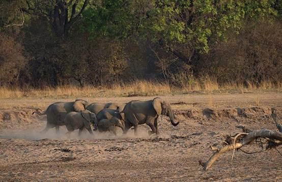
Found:
M 154 98 L 149 101 L 130 101 L 120 113 L 125 120 L 124 134 L 134 126 L 134 134 L 136 135 L 138 125 L 146 123 L 152 129 L 152 131 L 149 131 L 149 134 L 156 133 L 158 135 L 158 117 L 161 114 L 170 117 L 173 126 L 179 124 L 179 122 L 175 122 L 170 104 L 160 98 Z

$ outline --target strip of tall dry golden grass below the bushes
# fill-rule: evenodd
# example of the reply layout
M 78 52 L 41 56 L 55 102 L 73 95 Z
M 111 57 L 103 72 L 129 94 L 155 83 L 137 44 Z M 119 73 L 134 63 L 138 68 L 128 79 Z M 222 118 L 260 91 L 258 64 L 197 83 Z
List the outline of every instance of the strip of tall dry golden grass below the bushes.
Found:
M 235 90 L 237 93 L 246 92 L 263 92 L 264 90 L 273 90 L 280 92 L 282 83 L 274 84 L 271 81 L 264 81 L 261 85 L 256 85 L 253 82 L 247 82 L 247 86 L 230 82 L 227 84 L 219 84 L 216 79 L 201 79 L 187 82 L 182 88 L 171 86 L 167 82 L 153 81 L 134 81 L 130 83 L 113 84 L 110 86 L 84 86 L 83 88 L 73 85 L 65 85 L 58 87 L 36 88 L 19 88 L 19 87 L 0 87 L 0 98 L 34 98 L 34 97 L 132 97 L 132 96 L 154 96 L 154 95 L 171 95 L 189 93 L 194 90 L 202 91 L 203 93 L 214 93 L 222 90 L 229 92 Z M 259 105 L 259 99 L 256 103 Z M 212 105 L 212 99 L 209 101 Z

